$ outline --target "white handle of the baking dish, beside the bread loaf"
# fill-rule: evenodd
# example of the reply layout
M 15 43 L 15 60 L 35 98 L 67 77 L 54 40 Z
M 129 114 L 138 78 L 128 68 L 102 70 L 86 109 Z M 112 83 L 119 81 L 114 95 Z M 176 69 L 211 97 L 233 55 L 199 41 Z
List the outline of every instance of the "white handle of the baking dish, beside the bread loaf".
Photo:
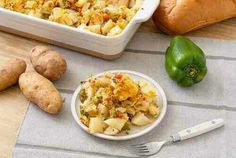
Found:
M 134 22 L 141 23 L 147 21 L 155 12 L 159 4 L 160 0 L 144 0 L 142 7 L 134 17 Z

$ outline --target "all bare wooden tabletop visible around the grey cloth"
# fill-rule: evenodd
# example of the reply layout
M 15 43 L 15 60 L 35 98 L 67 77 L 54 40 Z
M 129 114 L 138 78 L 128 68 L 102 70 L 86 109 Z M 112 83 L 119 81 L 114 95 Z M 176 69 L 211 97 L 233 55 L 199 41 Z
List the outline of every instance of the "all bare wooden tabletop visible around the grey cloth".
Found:
M 160 32 L 155 28 L 151 20 L 144 23 L 139 31 Z M 202 28 L 188 35 L 235 40 L 236 18 Z M 39 44 L 42 45 L 44 43 L 0 31 L 0 65 L 4 64 L 9 58 L 18 57 L 27 62 L 28 69 L 32 69 L 28 59 L 29 51 L 32 47 Z M 0 92 L 0 158 L 11 157 L 27 105 L 28 101 L 21 94 L 18 86 Z

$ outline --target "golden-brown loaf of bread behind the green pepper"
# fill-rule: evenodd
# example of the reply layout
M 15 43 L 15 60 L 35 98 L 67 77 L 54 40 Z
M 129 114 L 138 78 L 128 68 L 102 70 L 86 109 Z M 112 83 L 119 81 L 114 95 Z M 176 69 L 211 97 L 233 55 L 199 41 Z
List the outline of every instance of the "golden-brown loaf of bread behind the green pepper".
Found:
M 235 16 L 236 0 L 161 0 L 153 20 L 163 32 L 184 34 Z

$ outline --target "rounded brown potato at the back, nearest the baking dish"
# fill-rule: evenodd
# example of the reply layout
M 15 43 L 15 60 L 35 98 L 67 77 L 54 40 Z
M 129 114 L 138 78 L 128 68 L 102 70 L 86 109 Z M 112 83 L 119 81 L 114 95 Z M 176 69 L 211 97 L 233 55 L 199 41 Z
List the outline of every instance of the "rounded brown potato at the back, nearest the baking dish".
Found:
M 30 60 L 34 69 L 51 81 L 60 79 L 67 67 L 65 59 L 58 52 L 45 46 L 34 47 Z

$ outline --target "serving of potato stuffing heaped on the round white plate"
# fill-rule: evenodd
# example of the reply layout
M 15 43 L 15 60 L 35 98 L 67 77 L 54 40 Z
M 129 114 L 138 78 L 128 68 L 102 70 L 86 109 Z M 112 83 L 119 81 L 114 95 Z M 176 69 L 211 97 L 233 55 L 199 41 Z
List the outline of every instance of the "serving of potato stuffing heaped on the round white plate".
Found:
M 78 115 L 90 133 L 128 134 L 160 115 L 156 89 L 128 74 L 106 72 L 82 83 Z

